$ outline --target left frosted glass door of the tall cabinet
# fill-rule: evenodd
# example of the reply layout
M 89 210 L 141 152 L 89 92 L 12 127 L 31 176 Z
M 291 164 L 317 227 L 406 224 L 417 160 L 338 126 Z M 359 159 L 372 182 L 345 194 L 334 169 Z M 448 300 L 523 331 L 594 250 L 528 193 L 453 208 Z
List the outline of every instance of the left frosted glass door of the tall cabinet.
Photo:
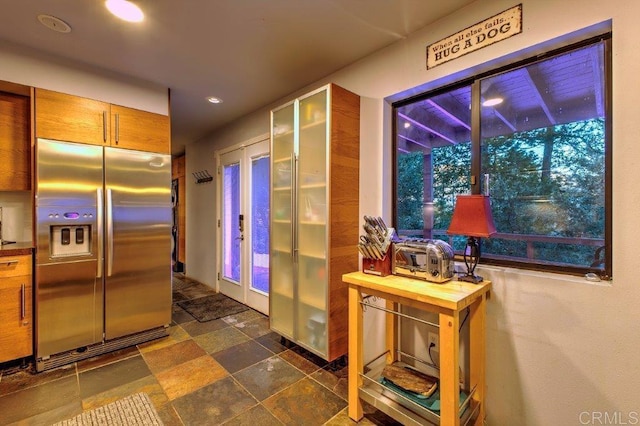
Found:
M 291 103 L 271 115 L 271 328 L 295 339 L 293 174 L 295 109 Z

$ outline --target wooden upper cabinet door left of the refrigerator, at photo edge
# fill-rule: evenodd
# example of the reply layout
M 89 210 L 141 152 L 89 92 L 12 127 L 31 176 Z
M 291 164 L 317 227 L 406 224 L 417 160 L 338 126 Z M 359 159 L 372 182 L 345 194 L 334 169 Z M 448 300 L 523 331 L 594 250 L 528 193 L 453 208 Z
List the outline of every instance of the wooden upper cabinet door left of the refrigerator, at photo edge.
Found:
M 0 92 L 0 191 L 31 189 L 29 97 Z

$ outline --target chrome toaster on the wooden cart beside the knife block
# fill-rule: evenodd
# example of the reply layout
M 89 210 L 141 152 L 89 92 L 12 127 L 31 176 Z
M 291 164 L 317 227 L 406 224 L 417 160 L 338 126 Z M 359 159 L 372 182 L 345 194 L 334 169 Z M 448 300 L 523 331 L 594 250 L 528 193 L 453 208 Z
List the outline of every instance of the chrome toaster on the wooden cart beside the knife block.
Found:
M 454 276 L 453 249 L 442 240 L 393 243 L 392 273 L 434 283 L 449 281 Z

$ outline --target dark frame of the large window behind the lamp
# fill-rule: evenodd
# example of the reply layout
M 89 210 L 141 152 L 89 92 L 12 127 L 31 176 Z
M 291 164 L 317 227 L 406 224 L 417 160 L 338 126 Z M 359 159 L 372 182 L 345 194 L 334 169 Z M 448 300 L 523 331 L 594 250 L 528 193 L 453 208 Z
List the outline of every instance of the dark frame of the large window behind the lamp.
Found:
M 470 176 L 472 180 L 470 182 L 471 193 L 480 194 L 481 191 L 481 106 L 480 106 L 480 82 L 488 77 L 493 77 L 501 73 L 512 71 L 516 68 L 532 65 L 537 62 L 548 60 L 552 57 L 569 53 L 571 51 L 588 47 L 597 43 L 603 43 L 604 47 L 604 98 L 603 107 L 605 111 L 604 123 L 605 123 L 605 183 L 604 183 L 604 202 L 605 202 L 605 224 L 604 224 L 604 260 L 603 269 L 572 266 L 572 265 L 555 265 L 548 264 L 541 261 L 523 261 L 513 259 L 500 259 L 491 256 L 483 256 L 481 251 L 480 263 L 485 265 L 507 266 L 515 267 L 519 269 L 555 272 L 569 275 L 584 275 L 586 273 L 595 273 L 602 280 L 611 280 L 613 271 L 613 256 L 612 256 L 612 228 L 613 228 L 613 197 L 612 197 L 612 163 L 613 163 L 613 139 L 612 139 L 612 37 L 611 32 L 606 32 L 595 37 L 591 37 L 582 40 L 577 43 L 573 43 L 567 46 L 562 46 L 556 49 L 551 49 L 548 52 L 528 57 L 522 60 L 515 61 L 505 66 L 489 70 L 457 82 L 443 85 L 434 90 L 429 90 L 414 96 L 410 96 L 406 99 L 396 101 L 391 104 L 392 107 L 392 222 L 393 226 L 397 227 L 398 220 L 398 208 L 396 200 L 398 199 L 398 108 L 435 97 L 439 94 L 450 92 L 459 89 L 464 86 L 471 87 L 471 170 Z M 482 247 L 481 247 L 482 249 Z M 456 259 L 462 258 L 461 253 L 456 253 Z

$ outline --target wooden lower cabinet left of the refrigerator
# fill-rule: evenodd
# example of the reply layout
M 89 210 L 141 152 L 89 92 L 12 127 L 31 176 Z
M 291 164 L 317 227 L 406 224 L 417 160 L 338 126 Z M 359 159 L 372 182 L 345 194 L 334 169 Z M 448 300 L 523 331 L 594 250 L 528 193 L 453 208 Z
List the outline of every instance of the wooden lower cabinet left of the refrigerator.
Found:
M 31 255 L 0 257 L 0 362 L 33 354 Z

